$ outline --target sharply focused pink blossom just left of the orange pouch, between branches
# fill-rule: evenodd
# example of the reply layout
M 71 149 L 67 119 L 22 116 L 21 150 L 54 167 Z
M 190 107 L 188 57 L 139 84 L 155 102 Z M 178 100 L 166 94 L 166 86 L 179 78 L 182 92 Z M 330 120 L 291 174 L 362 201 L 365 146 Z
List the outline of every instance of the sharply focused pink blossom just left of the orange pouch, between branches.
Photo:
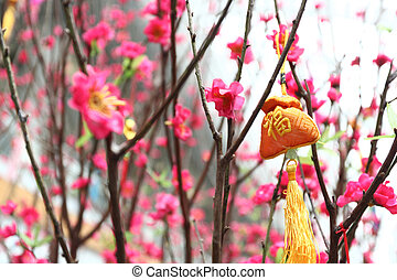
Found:
M 212 88 L 205 88 L 205 97 L 208 103 L 215 103 L 215 109 L 219 117 L 235 118 L 235 110 L 243 108 L 245 98 L 238 96 L 244 88 L 238 82 L 233 82 L 227 88 L 226 84 L 216 78 L 213 80 Z

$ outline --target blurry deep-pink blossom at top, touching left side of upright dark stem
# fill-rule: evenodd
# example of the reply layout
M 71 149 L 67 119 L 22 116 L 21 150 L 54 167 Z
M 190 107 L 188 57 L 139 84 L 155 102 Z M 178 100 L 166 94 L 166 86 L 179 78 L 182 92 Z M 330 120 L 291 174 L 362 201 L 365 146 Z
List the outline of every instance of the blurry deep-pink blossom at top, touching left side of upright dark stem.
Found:
M 167 46 L 171 36 L 170 18 L 164 17 L 162 19 L 154 18 L 150 20 L 143 33 L 148 36 L 149 42 Z

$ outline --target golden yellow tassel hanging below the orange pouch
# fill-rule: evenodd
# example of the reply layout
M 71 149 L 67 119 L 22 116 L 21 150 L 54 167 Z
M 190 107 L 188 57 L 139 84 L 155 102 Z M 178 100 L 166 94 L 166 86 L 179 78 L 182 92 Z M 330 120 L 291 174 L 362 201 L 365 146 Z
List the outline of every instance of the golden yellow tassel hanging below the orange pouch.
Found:
M 294 163 L 289 164 L 290 162 Z M 288 186 L 285 206 L 286 233 L 282 262 L 315 263 L 318 249 L 302 191 L 297 183 L 296 172 L 297 161 L 289 160 L 287 163 Z

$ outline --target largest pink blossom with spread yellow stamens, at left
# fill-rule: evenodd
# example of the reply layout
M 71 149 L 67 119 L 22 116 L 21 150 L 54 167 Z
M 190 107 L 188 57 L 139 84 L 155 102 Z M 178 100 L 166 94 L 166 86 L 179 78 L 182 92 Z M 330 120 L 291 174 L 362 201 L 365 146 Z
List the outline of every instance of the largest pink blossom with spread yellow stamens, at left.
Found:
M 69 106 L 79 110 L 89 130 L 97 139 L 107 137 L 110 131 L 122 133 L 126 103 L 118 97 L 120 93 L 112 84 L 106 84 L 107 74 L 87 66 L 88 76 L 82 72 L 73 75 Z

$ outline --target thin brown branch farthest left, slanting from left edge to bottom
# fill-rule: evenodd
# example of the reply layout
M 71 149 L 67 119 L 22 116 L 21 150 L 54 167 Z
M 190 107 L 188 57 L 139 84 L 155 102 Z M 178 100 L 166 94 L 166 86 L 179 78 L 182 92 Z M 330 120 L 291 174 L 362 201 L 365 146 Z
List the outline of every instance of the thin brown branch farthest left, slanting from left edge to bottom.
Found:
M 44 205 L 45 205 L 45 211 L 46 211 L 47 215 L 50 216 L 50 219 L 51 219 L 51 222 L 53 224 L 55 238 L 57 239 L 58 244 L 62 247 L 63 255 L 64 255 L 66 261 L 67 262 L 75 262 L 74 259 L 71 257 L 69 250 L 68 250 L 67 245 L 66 245 L 66 240 L 65 240 L 65 238 L 64 238 L 64 236 L 62 234 L 60 223 L 55 217 L 55 214 L 54 214 L 54 211 L 53 211 L 53 207 L 52 207 L 52 203 L 50 201 L 49 194 L 46 193 L 43 179 L 42 179 L 42 176 L 40 174 L 40 169 L 39 169 L 37 162 L 36 162 L 35 158 L 34 158 L 34 154 L 33 154 L 33 150 L 32 150 L 32 147 L 31 147 L 30 138 L 29 138 L 28 127 L 26 127 L 28 116 L 23 112 L 23 110 L 22 110 L 22 108 L 20 106 L 20 100 L 19 100 L 19 96 L 18 96 L 15 79 L 14 79 L 14 75 L 13 75 L 13 72 L 12 72 L 12 67 L 11 67 L 11 60 L 10 60 L 9 49 L 8 49 L 8 46 L 6 46 L 6 43 L 4 43 L 2 26 L 0 28 L 0 49 L 1 49 L 1 52 L 2 52 L 2 56 L 3 56 L 3 63 L 4 63 L 6 69 L 7 69 L 11 99 L 12 99 L 12 101 L 14 104 L 14 107 L 15 107 L 15 112 L 17 112 L 18 120 L 19 120 L 19 123 L 20 123 L 20 127 L 21 127 L 21 130 L 22 130 L 26 152 L 28 152 L 30 162 L 32 164 L 32 169 L 33 169 L 33 173 L 34 173 L 34 177 L 35 177 L 39 191 L 40 191 L 40 193 L 41 193 L 41 195 L 43 197 L 43 202 L 44 202 Z

